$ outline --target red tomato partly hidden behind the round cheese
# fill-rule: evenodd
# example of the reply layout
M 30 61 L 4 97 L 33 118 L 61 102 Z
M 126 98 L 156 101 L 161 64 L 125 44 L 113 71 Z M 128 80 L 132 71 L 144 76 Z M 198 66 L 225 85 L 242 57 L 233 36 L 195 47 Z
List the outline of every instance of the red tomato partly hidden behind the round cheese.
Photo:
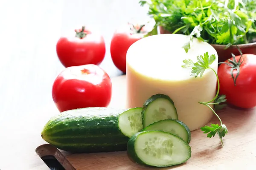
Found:
M 113 34 L 110 45 L 111 58 L 114 65 L 123 73 L 126 73 L 126 52 L 128 48 L 147 33 L 148 31 L 144 29 L 144 26 L 133 26 L 128 23 L 128 26 L 117 29 Z

